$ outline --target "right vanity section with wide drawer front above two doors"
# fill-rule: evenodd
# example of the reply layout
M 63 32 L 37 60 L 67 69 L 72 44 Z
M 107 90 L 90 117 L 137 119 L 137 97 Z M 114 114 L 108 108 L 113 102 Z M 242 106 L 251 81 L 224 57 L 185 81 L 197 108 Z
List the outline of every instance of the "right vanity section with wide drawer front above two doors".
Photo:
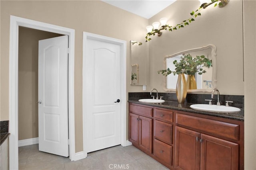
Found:
M 176 113 L 174 168 L 244 169 L 243 123 L 229 119 L 226 121 L 230 123 Z

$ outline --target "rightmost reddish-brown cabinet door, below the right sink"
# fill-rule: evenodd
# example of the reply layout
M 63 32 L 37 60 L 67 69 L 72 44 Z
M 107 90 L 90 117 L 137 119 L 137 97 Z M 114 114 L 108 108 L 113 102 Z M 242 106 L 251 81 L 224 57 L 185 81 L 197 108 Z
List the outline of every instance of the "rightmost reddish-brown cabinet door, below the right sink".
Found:
M 238 144 L 201 135 L 200 170 L 238 170 Z

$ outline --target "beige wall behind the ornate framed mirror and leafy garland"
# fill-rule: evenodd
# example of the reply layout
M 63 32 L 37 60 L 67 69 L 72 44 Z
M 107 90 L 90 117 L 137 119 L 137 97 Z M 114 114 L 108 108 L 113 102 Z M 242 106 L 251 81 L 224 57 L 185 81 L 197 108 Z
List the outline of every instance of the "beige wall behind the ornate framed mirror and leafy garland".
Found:
M 190 12 L 199 6 L 197 0 L 178 0 L 150 18 L 149 23 L 166 17 L 169 25 L 176 25 L 190 18 Z M 149 42 L 150 88 L 164 92 L 164 78 L 157 70 L 164 68 L 166 55 L 214 44 L 217 47 L 217 87 L 220 94 L 244 95 L 242 1 L 230 0 L 224 8 L 212 5 L 201 10 L 201 14 L 184 28 L 163 31 L 161 37 L 152 37 Z

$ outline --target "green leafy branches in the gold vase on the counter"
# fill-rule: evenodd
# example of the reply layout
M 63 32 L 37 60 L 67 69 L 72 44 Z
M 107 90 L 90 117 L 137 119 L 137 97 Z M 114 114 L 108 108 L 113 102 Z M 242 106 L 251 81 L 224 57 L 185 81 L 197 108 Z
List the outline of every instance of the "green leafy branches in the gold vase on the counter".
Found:
M 191 74 L 194 75 L 196 72 L 198 72 L 199 75 L 206 72 L 206 70 L 203 69 L 203 67 L 210 68 L 212 66 L 212 60 L 209 60 L 204 55 L 196 56 L 193 58 L 190 54 L 183 55 L 180 57 L 180 62 L 177 62 L 175 60 L 173 62 L 175 65 L 175 71 L 170 70 L 170 68 L 167 68 L 165 70 L 158 70 L 158 74 L 162 74 L 164 76 L 168 76 L 169 74 Z

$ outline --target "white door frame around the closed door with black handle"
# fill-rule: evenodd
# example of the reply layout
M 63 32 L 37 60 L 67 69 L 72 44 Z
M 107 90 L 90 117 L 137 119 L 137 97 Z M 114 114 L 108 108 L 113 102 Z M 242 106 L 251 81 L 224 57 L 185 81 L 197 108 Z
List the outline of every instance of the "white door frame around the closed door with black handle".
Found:
M 83 145 L 84 152 L 86 152 L 86 44 L 87 39 L 100 40 L 110 42 L 121 46 L 121 145 L 126 147 L 131 145 L 126 140 L 126 41 L 97 35 L 93 33 L 83 33 L 83 90 L 82 90 L 82 104 L 83 104 Z

